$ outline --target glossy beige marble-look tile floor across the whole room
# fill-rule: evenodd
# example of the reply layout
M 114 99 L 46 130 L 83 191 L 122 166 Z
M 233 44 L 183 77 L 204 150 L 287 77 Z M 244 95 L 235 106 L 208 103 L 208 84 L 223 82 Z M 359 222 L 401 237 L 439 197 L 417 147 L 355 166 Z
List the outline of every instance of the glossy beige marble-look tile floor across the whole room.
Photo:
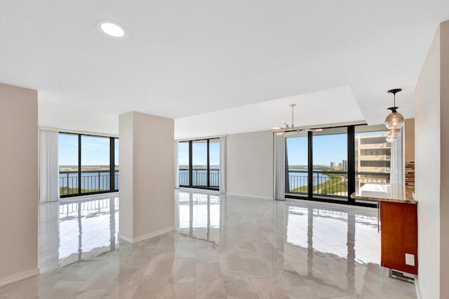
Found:
M 115 199 L 109 214 L 59 207 L 59 228 L 47 225 L 60 239 L 41 256 L 60 267 L 1 287 L 0 298 L 416 298 L 413 284 L 389 278 L 379 265 L 375 209 L 185 190 L 175 198 L 175 232 L 119 247 Z M 95 240 L 94 248 L 109 249 L 84 258 Z M 83 249 L 65 256 L 63 244 Z M 60 263 L 70 256 L 75 261 Z

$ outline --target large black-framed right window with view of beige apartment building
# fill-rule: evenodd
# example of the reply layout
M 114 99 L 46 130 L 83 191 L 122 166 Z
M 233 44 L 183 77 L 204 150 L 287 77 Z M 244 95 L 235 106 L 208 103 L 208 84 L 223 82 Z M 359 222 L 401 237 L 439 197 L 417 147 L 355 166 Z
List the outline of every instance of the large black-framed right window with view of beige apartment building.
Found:
M 290 134 L 285 145 L 286 197 L 371 205 L 351 193 L 366 183 L 389 182 L 391 150 L 382 126 Z

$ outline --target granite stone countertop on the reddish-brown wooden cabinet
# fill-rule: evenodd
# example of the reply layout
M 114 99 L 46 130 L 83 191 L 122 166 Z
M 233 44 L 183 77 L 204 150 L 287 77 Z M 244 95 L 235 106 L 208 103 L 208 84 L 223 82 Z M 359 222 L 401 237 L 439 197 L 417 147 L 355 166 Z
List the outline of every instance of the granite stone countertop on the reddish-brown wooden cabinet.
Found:
M 351 194 L 353 199 L 371 201 L 389 201 L 401 204 L 417 204 L 412 197 L 413 192 L 403 185 L 365 184 L 357 192 Z

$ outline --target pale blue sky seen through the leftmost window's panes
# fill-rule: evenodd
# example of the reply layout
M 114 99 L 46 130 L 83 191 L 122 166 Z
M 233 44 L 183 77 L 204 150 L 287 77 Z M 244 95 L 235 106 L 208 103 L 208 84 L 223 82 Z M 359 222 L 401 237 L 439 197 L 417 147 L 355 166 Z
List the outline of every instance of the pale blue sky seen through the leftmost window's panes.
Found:
M 115 145 L 115 162 L 119 165 L 119 140 Z M 59 134 L 58 152 L 60 165 L 78 165 L 78 135 Z M 109 138 L 82 135 L 81 164 L 109 165 Z

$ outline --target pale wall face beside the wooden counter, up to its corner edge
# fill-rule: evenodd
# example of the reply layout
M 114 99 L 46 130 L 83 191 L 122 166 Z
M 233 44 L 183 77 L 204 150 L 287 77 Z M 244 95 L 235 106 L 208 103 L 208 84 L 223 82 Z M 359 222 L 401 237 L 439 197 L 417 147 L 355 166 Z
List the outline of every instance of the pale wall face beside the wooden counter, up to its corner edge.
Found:
M 440 293 L 440 166 L 441 155 L 449 153 L 441 152 L 440 44 L 438 27 L 415 89 L 415 194 L 422 298 L 444 297 Z

